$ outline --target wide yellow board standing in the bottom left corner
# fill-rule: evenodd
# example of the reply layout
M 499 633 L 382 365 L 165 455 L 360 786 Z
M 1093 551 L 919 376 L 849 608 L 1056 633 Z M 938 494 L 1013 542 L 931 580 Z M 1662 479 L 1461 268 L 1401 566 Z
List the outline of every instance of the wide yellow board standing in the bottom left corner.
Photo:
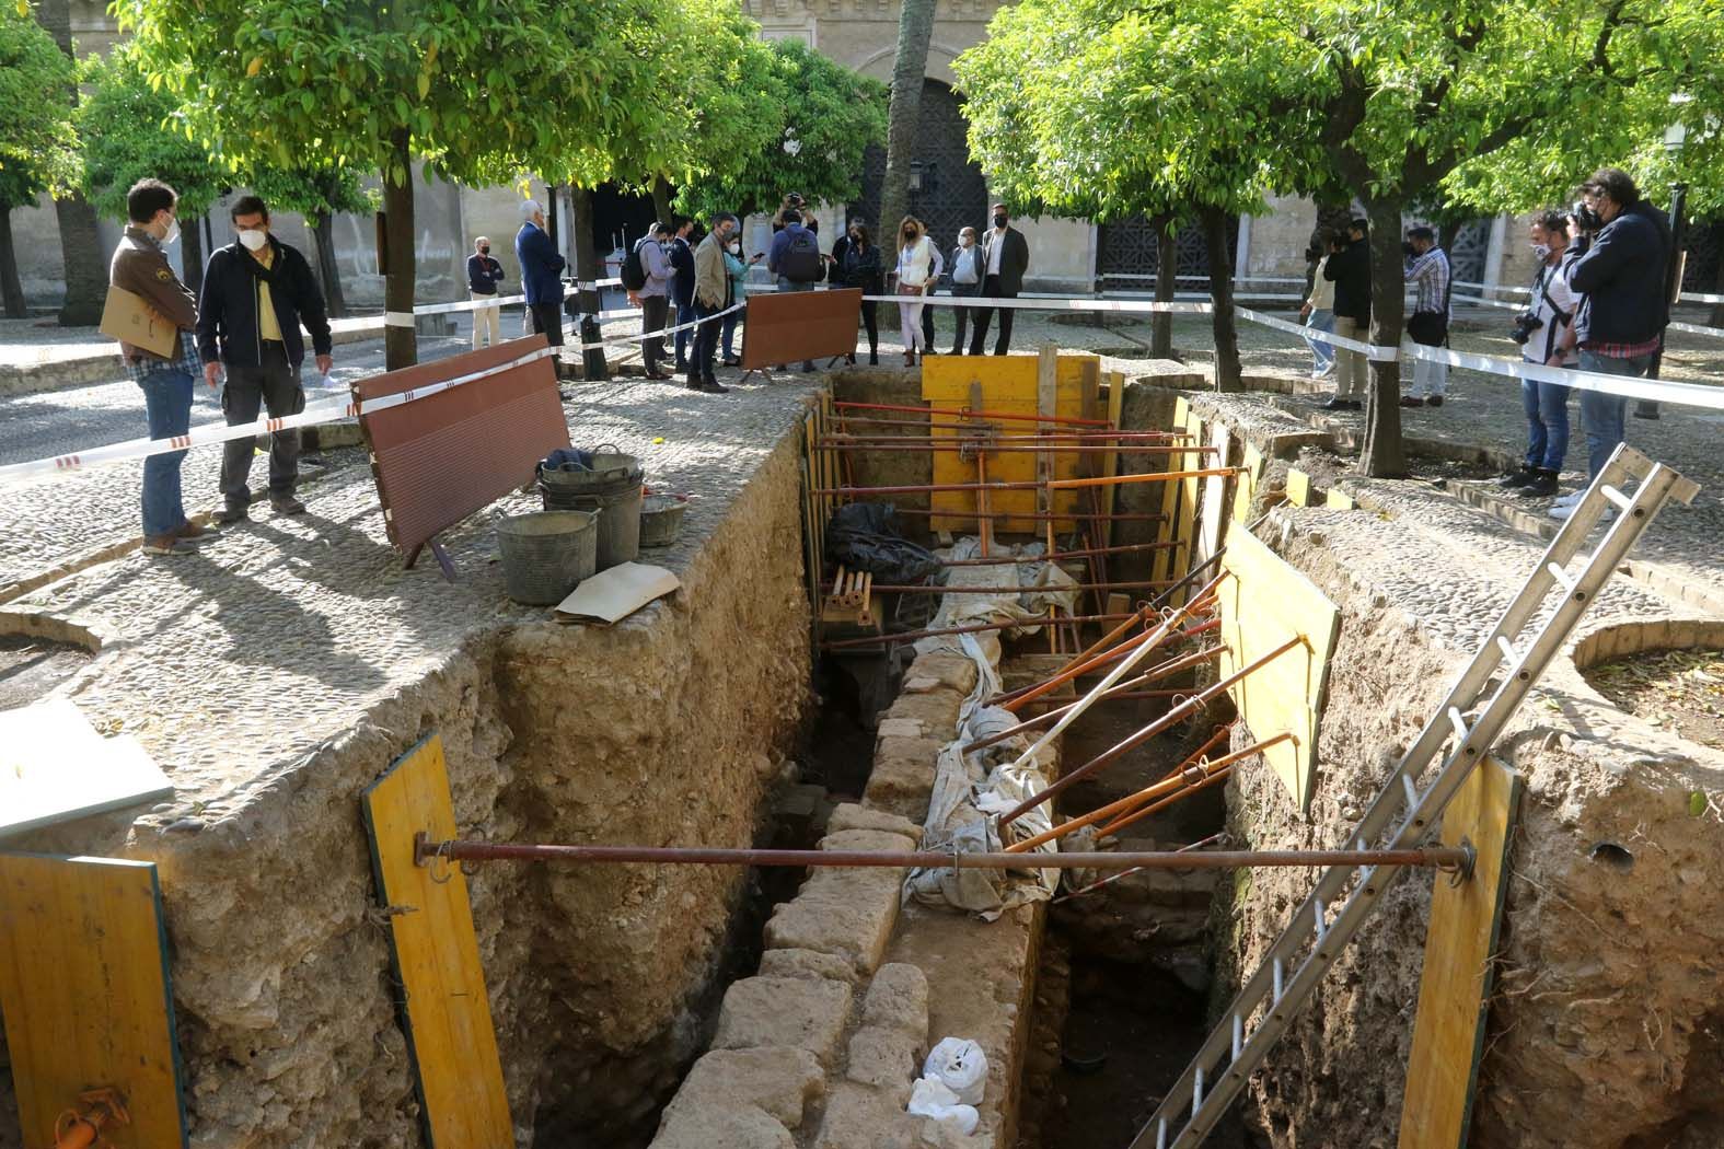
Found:
M 0 854 L 0 1011 L 26 1146 L 78 1096 L 116 1089 L 117 1149 L 186 1144 L 155 865 Z

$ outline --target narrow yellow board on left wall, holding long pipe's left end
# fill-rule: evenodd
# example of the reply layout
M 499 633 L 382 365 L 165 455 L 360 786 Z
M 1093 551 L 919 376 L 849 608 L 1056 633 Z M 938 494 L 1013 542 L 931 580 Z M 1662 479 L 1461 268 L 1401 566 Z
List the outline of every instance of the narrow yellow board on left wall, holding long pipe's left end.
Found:
M 397 758 L 365 791 L 364 808 L 378 897 L 390 910 L 402 1028 L 419 1080 L 426 1144 L 514 1149 L 467 879 L 460 866 L 414 865 L 415 834 L 455 837 L 443 741 L 433 734 Z

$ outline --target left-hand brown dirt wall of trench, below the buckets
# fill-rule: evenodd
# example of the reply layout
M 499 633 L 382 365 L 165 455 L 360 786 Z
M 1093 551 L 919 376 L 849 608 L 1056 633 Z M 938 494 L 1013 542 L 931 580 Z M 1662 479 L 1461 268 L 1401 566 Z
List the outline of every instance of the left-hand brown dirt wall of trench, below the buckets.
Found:
M 421 1144 L 359 799 L 422 736 L 443 739 L 464 832 L 753 839 L 809 701 L 800 531 L 791 436 L 667 603 L 612 629 L 478 632 L 219 820 L 19 842 L 160 866 L 193 1146 Z M 703 1044 L 745 882 L 717 866 L 471 879 L 521 1144 L 569 1144 L 574 1128 L 583 1144 L 645 1144 Z M 3 1053 L 0 1078 L 9 1092 Z M 36 1140 L 19 1140 L 0 1096 L 0 1149 Z

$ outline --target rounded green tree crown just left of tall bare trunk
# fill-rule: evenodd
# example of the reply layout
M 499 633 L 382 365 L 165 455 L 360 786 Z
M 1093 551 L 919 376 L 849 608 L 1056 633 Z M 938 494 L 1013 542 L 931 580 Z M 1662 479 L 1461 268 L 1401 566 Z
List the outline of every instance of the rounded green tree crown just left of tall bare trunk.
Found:
M 709 157 L 710 169 L 681 188 L 679 210 L 769 210 L 786 191 L 814 203 L 862 195 L 864 152 L 886 140 L 884 84 L 788 40 L 753 41 L 740 81 L 759 140 Z

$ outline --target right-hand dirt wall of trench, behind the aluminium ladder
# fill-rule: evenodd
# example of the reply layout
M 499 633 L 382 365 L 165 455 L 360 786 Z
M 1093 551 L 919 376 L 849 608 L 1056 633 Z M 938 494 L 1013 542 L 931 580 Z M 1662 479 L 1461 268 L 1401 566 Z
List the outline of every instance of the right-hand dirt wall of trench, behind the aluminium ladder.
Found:
M 1269 772 L 1236 772 L 1229 830 L 1255 849 L 1329 848 L 1471 651 L 1427 639 L 1369 589 L 1369 572 L 1341 568 L 1321 536 L 1295 531 L 1279 550 L 1343 610 L 1321 773 L 1302 818 Z M 1581 634 L 1598 627 L 1591 620 Z M 1724 832 L 1715 803 L 1695 813 L 1695 794 L 1724 784 L 1724 756 L 1612 710 L 1567 655 L 1495 755 L 1524 775 L 1526 792 L 1467 1144 L 1724 1144 Z M 1257 966 L 1312 880 L 1259 870 L 1222 885 L 1212 918 L 1221 992 Z M 1414 875 L 1379 903 L 1253 1077 L 1241 1104 L 1276 1149 L 1396 1144 L 1429 892 L 1431 877 Z

